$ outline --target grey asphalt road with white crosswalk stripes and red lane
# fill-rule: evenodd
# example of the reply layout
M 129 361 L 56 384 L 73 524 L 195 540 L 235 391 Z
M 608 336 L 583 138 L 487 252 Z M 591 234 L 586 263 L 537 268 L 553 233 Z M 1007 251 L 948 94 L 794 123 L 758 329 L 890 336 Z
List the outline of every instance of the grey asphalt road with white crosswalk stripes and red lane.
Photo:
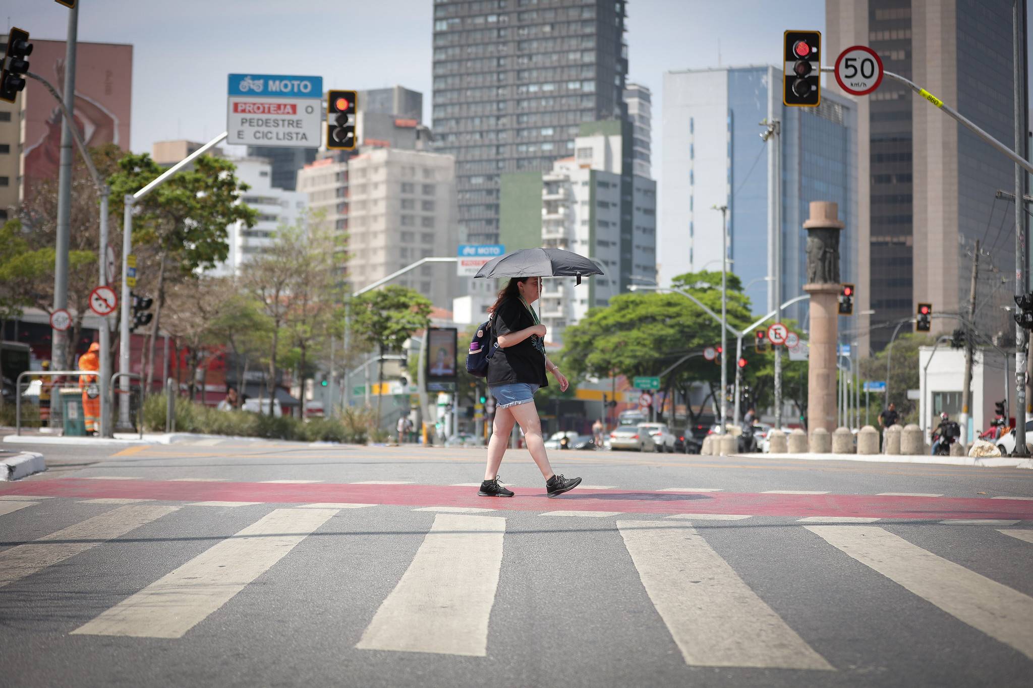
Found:
M 1030 470 L 199 441 L 25 447 L 3 685 L 1031 684 Z

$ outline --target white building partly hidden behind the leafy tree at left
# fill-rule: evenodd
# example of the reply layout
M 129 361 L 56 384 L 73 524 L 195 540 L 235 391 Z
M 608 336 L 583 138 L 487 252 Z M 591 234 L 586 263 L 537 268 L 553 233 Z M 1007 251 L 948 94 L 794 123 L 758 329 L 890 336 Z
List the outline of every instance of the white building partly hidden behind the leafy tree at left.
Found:
M 254 227 L 237 222 L 226 228 L 229 256 L 213 270 L 218 275 L 240 275 L 248 261 L 263 253 L 275 240 L 276 231 L 303 219 L 308 197 L 298 191 L 287 191 L 273 186 L 273 165 L 264 158 L 234 160 L 237 177 L 250 189 L 241 197 L 258 212 Z

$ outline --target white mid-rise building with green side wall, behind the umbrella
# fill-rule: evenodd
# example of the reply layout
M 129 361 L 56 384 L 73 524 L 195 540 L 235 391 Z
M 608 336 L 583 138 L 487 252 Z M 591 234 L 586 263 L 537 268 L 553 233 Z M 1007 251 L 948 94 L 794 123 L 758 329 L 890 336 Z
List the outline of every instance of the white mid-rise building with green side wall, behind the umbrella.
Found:
M 630 202 L 622 200 L 630 165 L 622 123 L 583 125 L 574 155 L 544 174 L 503 175 L 502 240 L 507 251 L 533 247 L 564 249 L 597 261 L 604 275 L 545 280 L 539 313 L 546 340 L 562 341 L 563 329 L 589 308 L 605 306 L 627 291 L 631 275 L 655 279 L 656 183 L 631 175 Z

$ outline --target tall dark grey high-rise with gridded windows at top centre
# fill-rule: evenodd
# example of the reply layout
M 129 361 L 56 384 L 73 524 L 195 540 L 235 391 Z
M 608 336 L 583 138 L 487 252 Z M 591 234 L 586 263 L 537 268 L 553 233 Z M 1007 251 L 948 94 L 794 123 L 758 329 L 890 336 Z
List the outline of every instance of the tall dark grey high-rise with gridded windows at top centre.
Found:
M 500 175 L 552 169 L 583 122 L 623 117 L 623 0 L 435 0 L 433 129 L 460 224 L 494 243 Z M 630 192 L 629 192 L 630 193 Z

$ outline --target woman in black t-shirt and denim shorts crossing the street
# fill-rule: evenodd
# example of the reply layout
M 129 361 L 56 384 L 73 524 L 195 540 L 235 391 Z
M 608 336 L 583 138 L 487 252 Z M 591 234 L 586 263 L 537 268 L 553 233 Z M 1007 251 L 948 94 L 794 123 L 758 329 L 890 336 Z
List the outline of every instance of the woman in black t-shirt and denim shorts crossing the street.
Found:
M 477 492 L 484 497 L 513 496 L 511 490 L 499 484 L 498 476 L 513 423 L 520 423 L 524 430 L 524 441 L 545 479 L 550 497 L 581 484 L 581 478 L 566 479 L 553 472 L 541 436 L 541 420 L 534 405 L 534 393 L 549 386 L 546 370 L 560 384 L 560 391 L 565 392 L 569 385 L 559 367 L 545 356 L 545 326 L 531 306 L 540 293 L 541 277 L 511 277 L 490 310 L 499 348 L 488 365 L 488 386 L 496 406 L 484 482 Z

